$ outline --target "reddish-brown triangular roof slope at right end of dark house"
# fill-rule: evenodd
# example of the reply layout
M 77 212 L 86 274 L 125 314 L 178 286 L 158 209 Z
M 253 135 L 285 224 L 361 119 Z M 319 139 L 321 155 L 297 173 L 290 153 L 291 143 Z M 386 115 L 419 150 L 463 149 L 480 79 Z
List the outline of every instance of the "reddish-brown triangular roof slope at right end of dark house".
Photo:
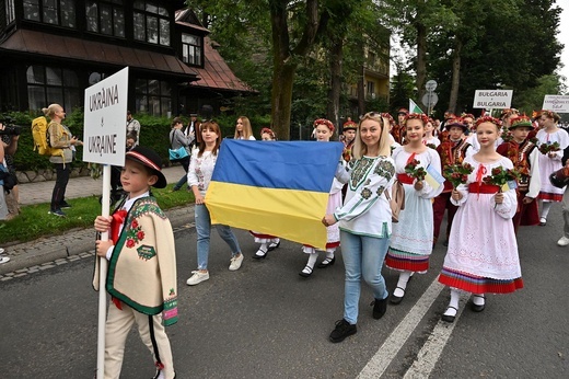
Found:
M 218 50 L 211 46 L 211 39 L 209 37 L 204 37 L 204 55 L 206 57 L 204 68 L 195 68 L 200 79 L 189 83 L 189 87 L 255 92 L 235 77 Z

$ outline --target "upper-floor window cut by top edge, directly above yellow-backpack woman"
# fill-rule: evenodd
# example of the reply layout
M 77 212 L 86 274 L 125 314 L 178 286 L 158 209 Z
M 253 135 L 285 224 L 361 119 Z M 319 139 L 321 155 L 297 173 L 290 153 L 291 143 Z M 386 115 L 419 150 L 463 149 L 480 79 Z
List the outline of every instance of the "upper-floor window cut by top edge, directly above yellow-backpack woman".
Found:
M 23 0 L 24 19 L 76 27 L 76 0 Z

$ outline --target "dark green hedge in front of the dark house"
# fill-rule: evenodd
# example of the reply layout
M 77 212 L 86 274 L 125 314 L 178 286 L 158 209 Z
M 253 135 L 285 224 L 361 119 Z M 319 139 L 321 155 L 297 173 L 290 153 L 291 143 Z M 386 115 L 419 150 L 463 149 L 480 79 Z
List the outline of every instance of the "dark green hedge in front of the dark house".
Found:
M 0 115 L 0 120 L 8 117 L 13 119 L 15 125 L 22 126 L 22 134 L 18 141 L 18 152 L 14 156 L 14 164 L 18 171 L 37 171 L 48 169 L 51 166 L 49 159 L 39 156 L 33 150 L 32 139 L 32 119 L 39 116 L 39 114 L 30 114 L 25 112 L 9 112 Z M 169 134 L 171 129 L 172 119 L 167 117 L 155 117 L 147 114 L 133 115 L 140 122 L 140 145 L 147 146 L 156 151 L 162 158 L 164 165 L 170 165 L 167 149 L 170 148 Z M 221 115 L 214 119 L 221 127 L 222 137 L 233 137 L 235 133 L 235 123 L 239 116 Z M 189 117 L 182 117 L 184 123 L 189 122 Z M 253 133 L 255 138 L 259 138 L 260 129 L 270 127 L 270 116 L 253 116 L 249 117 L 253 125 Z M 74 110 L 67 115 L 63 123 L 69 127 L 71 133 L 83 140 L 83 112 L 80 108 Z M 125 117 L 126 125 L 126 117 Z M 82 147 L 78 147 L 78 160 L 72 163 L 73 168 L 86 166 L 86 162 L 81 161 Z

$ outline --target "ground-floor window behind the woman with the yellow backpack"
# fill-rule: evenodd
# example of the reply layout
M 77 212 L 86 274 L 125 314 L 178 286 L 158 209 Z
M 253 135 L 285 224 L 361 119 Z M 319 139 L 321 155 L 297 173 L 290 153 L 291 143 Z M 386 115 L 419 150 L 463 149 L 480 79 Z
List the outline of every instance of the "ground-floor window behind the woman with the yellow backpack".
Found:
M 31 111 L 42 110 L 57 103 L 71 112 L 81 106 L 83 96 L 79 91 L 77 73 L 71 70 L 30 66 L 27 76 L 27 102 Z

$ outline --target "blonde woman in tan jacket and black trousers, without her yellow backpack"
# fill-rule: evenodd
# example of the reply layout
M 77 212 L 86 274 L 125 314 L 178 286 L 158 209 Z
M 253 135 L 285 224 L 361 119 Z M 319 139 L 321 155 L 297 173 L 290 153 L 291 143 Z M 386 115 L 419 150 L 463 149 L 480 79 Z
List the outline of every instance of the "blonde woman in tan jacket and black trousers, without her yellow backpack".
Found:
M 61 122 L 66 118 L 66 112 L 59 104 L 51 104 L 42 112 L 49 117 L 50 122 L 47 127 L 49 134 L 49 145 L 53 148 L 62 149 L 61 156 L 51 156 L 49 161 L 54 163 L 56 169 L 56 185 L 51 194 L 51 205 L 49 214 L 66 217 L 61 208 L 70 208 L 71 206 L 65 200 L 67 183 L 69 182 L 69 174 L 71 172 L 70 163 L 73 160 L 76 146 L 81 146 L 77 137 L 71 135 L 71 131 Z

